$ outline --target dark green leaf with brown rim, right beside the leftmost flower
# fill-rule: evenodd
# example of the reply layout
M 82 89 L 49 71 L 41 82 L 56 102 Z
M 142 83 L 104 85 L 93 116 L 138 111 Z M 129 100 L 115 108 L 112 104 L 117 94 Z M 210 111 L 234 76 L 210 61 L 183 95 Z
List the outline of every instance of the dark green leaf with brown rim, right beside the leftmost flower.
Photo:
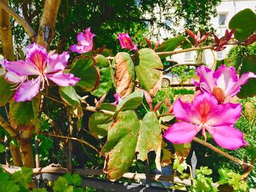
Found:
M 80 77 L 76 86 L 83 91 L 93 91 L 99 85 L 99 72 L 94 66 L 94 59 L 80 55 L 72 62 L 72 68 L 69 71 L 75 77 Z

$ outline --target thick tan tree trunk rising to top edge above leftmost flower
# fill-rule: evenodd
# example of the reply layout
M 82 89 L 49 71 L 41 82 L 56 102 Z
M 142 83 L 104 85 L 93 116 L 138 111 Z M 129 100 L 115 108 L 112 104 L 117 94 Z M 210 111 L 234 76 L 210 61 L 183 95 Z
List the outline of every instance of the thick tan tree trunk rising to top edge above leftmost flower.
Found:
M 61 0 L 45 0 L 45 6 L 37 35 L 37 43 L 47 49 L 49 49 L 50 42 L 55 35 L 56 19 L 60 2 Z

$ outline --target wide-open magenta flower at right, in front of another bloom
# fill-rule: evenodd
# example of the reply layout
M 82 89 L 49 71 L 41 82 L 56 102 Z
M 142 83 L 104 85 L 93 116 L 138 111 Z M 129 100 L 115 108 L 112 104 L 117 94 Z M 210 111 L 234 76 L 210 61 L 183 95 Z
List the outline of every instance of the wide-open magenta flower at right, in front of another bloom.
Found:
M 192 103 L 178 99 L 173 104 L 173 114 L 179 121 L 165 131 L 165 139 L 173 143 L 188 143 L 199 131 L 206 139 L 206 131 L 214 141 L 223 148 L 235 150 L 243 145 L 241 131 L 234 128 L 241 115 L 241 104 L 218 104 L 217 99 L 209 93 L 200 93 Z

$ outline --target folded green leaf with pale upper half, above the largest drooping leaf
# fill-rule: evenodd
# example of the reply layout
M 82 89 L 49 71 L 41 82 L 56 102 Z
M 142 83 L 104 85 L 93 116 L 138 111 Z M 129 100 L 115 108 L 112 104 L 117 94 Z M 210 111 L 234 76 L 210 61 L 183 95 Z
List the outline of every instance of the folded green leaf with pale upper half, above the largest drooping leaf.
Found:
M 125 111 L 125 110 L 135 110 L 143 101 L 143 92 L 137 90 L 132 94 L 129 94 L 126 98 L 121 100 L 121 102 L 116 107 L 117 111 Z

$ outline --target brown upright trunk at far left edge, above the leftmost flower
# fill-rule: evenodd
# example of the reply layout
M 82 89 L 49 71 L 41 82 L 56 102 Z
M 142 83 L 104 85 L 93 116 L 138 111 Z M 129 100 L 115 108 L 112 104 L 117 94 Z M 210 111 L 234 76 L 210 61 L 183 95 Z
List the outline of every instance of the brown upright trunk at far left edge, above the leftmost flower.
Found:
M 4 3 L 8 4 L 8 0 L 4 0 Z M 10 15 L 4 9 L 0 9 L 0 36 L 4 58 L 14 61 Z

